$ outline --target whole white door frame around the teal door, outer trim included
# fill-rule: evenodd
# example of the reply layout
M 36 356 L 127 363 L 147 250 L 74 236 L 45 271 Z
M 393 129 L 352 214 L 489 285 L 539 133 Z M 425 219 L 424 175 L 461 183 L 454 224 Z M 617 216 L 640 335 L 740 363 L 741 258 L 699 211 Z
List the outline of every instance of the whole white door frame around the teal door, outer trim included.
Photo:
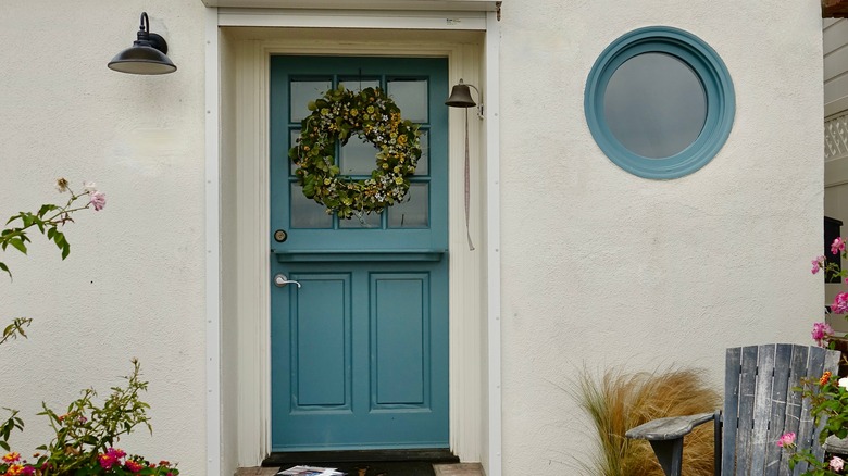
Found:
M 221 30 L 227 28 L 274 27 L 299 35 L 298 28 L 345 28 L 379 37 L 376 30 L 442 30 L 446 21 L 457 30 L 485 32 L 483 43 L 414 41 L 423 32 L 407 34 L 407 40 L 345 41 L 344 45 L 314 39 L 267 38 L 237 41 Z M 436 34 L 440 35 L 440 34 Z M 444 34 L 441 34 L 444 35 Z M 209 475 L 228 473 L 234 464 L 254 465 L 270 448 L 270 358 L 267 321 L 270 316 L 270 277 L 267 274 L 267 58 L 277 53 L 299 54 L 391 54 L 436 55 L 449 59 L 449 78 L 456 83 L 483 86 L 486 120 L 471 123 L 472 137 L 472 224 L 476 250 L 465 245 L 462 210 L 464 188 L 462 162 L 464 138 L 462 111 L 451 111 L 450 125 L 450 255 L 451 255 L 451 448 L 466 460 L 476 455 L 489 476 L 501 474 L 501 391 L 500 391 L 500 213 L 499 213 L 499 25 L 495 12 L 345 12 L 207 9 L 207 451 Z M 433 36 L 433 35 L 431 35 Z M 447 36 L 450 37 L 449 35 Z M 481 58 L 482 57 L 482 58 Z M 224 60 L 222 60 L 224 58 Z M 235 60 L 233 60 L 235 58 Z M 485 66 L 481 67 L 481 59 Z M 234 64 L 230 64 L 233 63 Z M 225 64 L 226 63 L 226 64 Z M 242 85 L 222 91 L 222 75 L 237 78 Z M 226 82 L 224 82 L 226 83 Z M 250 85 L 250 87 L 244 87 Z M 223 96 L 236 95 L 235 116 L 222 113 Z M 223 108 L 233 114 L 232 108 Z M 225 129 L 236 127 L 237 133 Z M 237 125 L 234 125 L 237 124 Z M 474 138 L 482 138 L 475 140 Z M 233 147 L 228 141 L 235 140 Z M 225 145 L 225 146 L 222 146 Z M 222 176 L 221 170 L 235 149 L 237 184 Z M 253 158 L 254 160 L 246 160 Z M 222 184 L 222 179 L 225 184 Z M 230 180 L 227 183 L 226 180 Z M 228 203 L 222 201 L 223 187 L 234 185 L 237 192 L 235 223 L 225 223 Z M 476 191 L 474 191 L 476 189 Z M 475 203 L 476 201 L 476 203 Z M 459 208 L 457 208 L 457 204 Z M 236 231 L 228 229 L 235 227 Z M 235 233 L 237 246 L 221 246 L 222 234 Z M 227 253 L 234 253 L 229 256 Z M 222 283 L 222 262 L 234 259 L 238 296 L 236 315 L 226 315 L 232 303 L 224 302 L 227 290 Z M 233 272 L 233 270 L 228 270 Z M 471 287 L 472 289 L 469 289 Z M 476 289 L 475 289 L 476 287 Z M 472 292 L 469 292 L 472 291 Z M 453 297 L 472 296 L 472 299 Z M 456 316 L 462 316 L 457 318 Z M 238 363 L 235 376 L 229 363 L 222 360 L 227 349 L 222 343 L 225 320 L 237 320 Z M 473 338 L 473 339 L 472 339 Z M 474 340 L 476 339 L 476 340 Z M 246 352 L 246 350 L 252 350 Z M 483 361 L 483 362 L 481 362 Z M 473 375 L 472 375 L 473 374 Z M 476 388 L 467 388 L 467 381 Z M 245 384 L 248 385 L 245 385 Z M 234 388 L 235 387 L 235 388 Z M 227 402 L 235 401 L 237 418 L 225 418 Z M 469 406 L 487 409 L 485 414 L 469 417 Z M 476 421 L 475 421 L 476 418 Z M 237 422 L 237 430 L 225 427 L 225 419 Z M 235 435 L 235 437 L 233 437 Z M 237 463 L 223 450 L 238 444 Z M 476 446 L 476 447 L 475 447 Z

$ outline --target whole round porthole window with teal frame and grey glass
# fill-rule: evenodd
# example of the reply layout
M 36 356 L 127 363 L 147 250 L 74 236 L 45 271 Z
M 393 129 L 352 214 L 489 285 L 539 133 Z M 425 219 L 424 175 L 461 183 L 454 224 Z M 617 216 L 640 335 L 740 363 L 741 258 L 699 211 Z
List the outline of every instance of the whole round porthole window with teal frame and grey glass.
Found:
M 724 62 L 687 32 L 651 26 L 612 42 L 586 82 L 585 113 L 610 160 L 646 178 L 691 174 L 724 146 L 735 113 Z

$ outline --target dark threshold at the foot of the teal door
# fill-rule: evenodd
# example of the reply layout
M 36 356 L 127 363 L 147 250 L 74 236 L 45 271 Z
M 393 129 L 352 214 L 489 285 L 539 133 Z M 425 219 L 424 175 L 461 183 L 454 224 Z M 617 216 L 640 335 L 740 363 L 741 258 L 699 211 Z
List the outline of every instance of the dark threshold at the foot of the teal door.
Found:
M 369 463 L 420 461 L 429 463 L 459 463 L 459 458 L 444 448 L 417 450 L 345 450 L 273 452 L 263 462 L 264 467 L 278 467 L 303 462 Z

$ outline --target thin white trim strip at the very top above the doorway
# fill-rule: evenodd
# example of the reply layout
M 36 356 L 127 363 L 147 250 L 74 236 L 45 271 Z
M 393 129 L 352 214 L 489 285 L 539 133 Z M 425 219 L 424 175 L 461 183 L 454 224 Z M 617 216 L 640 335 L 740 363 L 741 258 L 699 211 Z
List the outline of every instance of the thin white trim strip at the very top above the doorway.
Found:
M 497 11 L 494 0 L 202 0 L 207 7 L 249 9 Z

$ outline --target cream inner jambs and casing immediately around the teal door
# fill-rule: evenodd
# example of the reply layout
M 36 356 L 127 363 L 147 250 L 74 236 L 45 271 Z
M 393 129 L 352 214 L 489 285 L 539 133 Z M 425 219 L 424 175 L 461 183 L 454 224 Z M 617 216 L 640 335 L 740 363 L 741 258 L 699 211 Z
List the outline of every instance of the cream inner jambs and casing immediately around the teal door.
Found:
M 305 37 L 310 32 L 300 32 Z M 290 35 L 290 32 L 287 33 Z M 379 54 L 379 55 L 411 55 L 411 57 L 447 57 L 449 60 L 449 79 L 458 82 L 463 77 L 466 82 L 482 84 L 481 64 L 483 49 L 479 41 L 469 43 L 452 41 L 450 35 L 444 33 L 437 38 L 433 35 L 427 38 L 422 32 L 398 32 L 391 41 L 345 41 L 344 48 L 337 42 L 315 41 L 312 39 L 297 39 L 287 37 L 279 39 L 233 39 L 230 41 L 232 54 L 235 58 L 234 67 L 237 76 L 238 88 L 236 90 L 236 117 L 237 134 L 233 133 L 236 141 L 235 166 L 237 167 L 237 268 L 239 279 L 237 281 L 237 317 L 238 333 L 238 364 L 237 364 L 237 393 L 238 393 L 238 425 L 237 442 L 240 465 L 258 464 L 267 454 L 270 449 L 270 342 L 269 338 L 269 224 L 267 224 L 267 59 L 271 54 Z M 406 39 L 404 39 L 406 38 Z M 488 110 L 497 112 L 492 102 L 487 100 Z M 490 256 L 484 253 L 485 242 L 476 253 L 470 252 L 464 242 L 464 218 L 461 213 L 462 195 L 462 158 L 463 149 L 463 123 L 459 112 L 451 112 L 450 120 L 450 184 L 451 197 L 450 213 L 450 314 L 463 315 L 463 320 L 451 320 L 450 342 L 450 438 L 451 448 L 454 449 L 464 461 L 481 461 L 488 456 L 494 448 L 492 442 L 484 448 L 481 435 L 494 433 L 499 436 L 500 410 L 499 410 L 499 375 L 500 364 L 498 359 L 489 359 L 487 362 L 481 359 L 485 355 L 483 349 L 489 343 L 485 339 L 497 338 L 499 333 L 491 327 L 485 329 L 487 312 L 497 311 L 487 309 L 487 302 L 499 300 L 499 295 L 490 296 L 484 291 L 483 273 Z M 483 165 L 483 129 L 489 124 L 472 122 L 471 142 L 472 177 L 473 183 L 473 209 L 479 208 L 486 195 L 497 193 L 497 187 L 491 190 L 479 177 L 484 177 L 487 167 Z M 487 177 L 490 177 L 488 175 Z M 482 221 L 474 220 L 473 212 L 472 234 L 483 226 Z M 497 241 L 495 241 L 497 243 Z M 497 250 L 495 250 L 497 253 Z M 497 276 L 495 274 L 494 276 Z M 489 272 L 489 277 L 492 274 Z M 458 298 L 462 297 L 462 298 Z M 498 330 L 498 329 L 495 329 Z M 499 355 L 500 347 L 492 349 L 491 353 Z M 494 364 L 494 365 L 492 365 Z M 497 379 L 496 379 L 497 378 Z M 458 380 L 460 379 L 460 380 Z M 464 381 L 463 386 L 458 381 Z M 469 381 L 474 383 L 467 385 Z M 497 386 L 497 394 L 487 390 L 487 386 Z M 463 388 L 459 393 L 458 389 Z M 488 392 L 488 394 L 485 394 Z M 490 401 L 497 408 L 479 408 L 481 401 Z M 492 422 L 492 414 L 496 421 Z M 499 444 L 499 441 L 497 442 Z M 499 461 L 499 460 L 498 460 Z

